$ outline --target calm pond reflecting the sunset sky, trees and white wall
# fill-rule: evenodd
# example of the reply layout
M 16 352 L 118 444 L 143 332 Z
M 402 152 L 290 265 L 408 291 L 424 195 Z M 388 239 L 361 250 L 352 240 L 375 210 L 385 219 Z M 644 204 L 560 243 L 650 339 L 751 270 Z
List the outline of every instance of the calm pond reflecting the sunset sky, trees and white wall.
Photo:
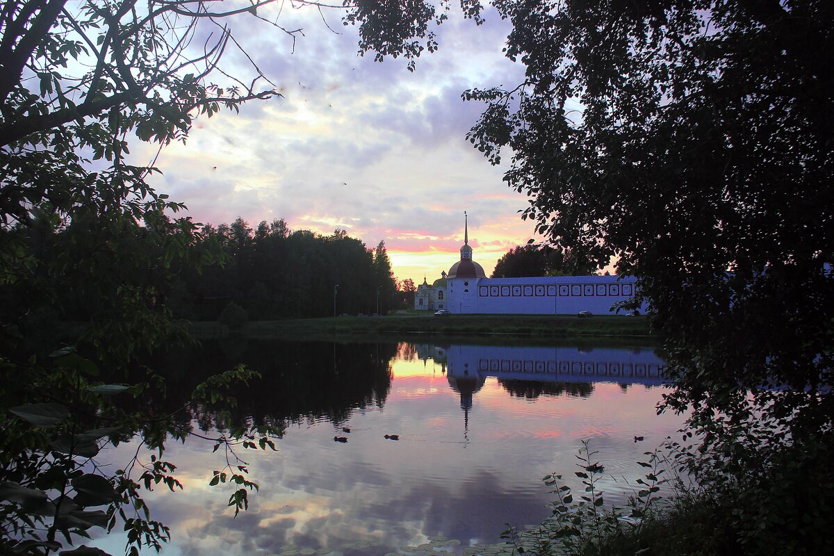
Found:
M 684 420 L 656 415 L 664 362 L 647 346 L 237 339 L 167 364 L 183 384 L 174 388 L 185 389 L 237 362 L 264 375 L 239 393 L 239 411 L 283 428 L 277 451 L 241 454 L 259 492 L 234 518 L 231 490 L 208 486 L 223 450 L 198 438 L 169 443 L 184 490 L 146 498 L 171 527 L 163 554 L 460 553 L 499 542 L 507 523 L 550 515 L 542 478 L 563 473 L 578 486 L 584 439 L 605 465 L 606 502 L 622 503 L 634 484 L 624 479 L 643 475 L 636 462 Z M 210 413 L 193 415 L 195 432 L 216 436 L 216 426 Z M 136 448 L 110 448 L 109 457 Z M 88 544 L 118 554 L 124 539 L 114 532 Z

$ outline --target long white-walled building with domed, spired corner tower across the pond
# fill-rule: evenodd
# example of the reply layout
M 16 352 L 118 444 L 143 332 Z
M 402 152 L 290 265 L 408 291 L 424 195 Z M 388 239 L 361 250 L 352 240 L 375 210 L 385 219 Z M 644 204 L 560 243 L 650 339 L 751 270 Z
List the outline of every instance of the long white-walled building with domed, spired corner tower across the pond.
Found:
M 423 278 L 414 294 L 414 308 L 450 313 L 616 314 L 615 303 L 631 301 L 635 288 L 634 277 L 616 275 L 486 278 L 484 268 L 472 258 L 466 218 L 460 261 L 431 285 Z M 640 311 L 645 313 L 646 307 Z

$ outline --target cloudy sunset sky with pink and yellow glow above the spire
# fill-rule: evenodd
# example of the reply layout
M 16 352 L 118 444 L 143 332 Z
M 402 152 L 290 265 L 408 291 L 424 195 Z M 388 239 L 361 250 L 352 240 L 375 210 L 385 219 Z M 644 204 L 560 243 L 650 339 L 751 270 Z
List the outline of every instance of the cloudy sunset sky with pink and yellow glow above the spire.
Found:
M 460 93 L 523 77 L 501 53 L 509 26 L 493 11 L 485 17 L 476 27 L 453 10 L 437 28 L 440 51 L 420 58 L 414 73 L 401 59 L 359 57 L 356 30 L 339 10 L 284 8 L 279 23 L 304 29 L 295 44 L 255 18 L 230 20 L 283 98 L 199 118 L 186 144 L 159 156 L 155 186 L 198 222 L 240 216 L 254 227 L 284 218 L 292 229 L 343 228 L 368 247 L 384 240 L 394 274 L 415 283 L 460 258 L 467 211 L 475 260 L 489 275 L 533 226 L 518 214 L 525 195 L 501 181 L 506 167 L 491 167 L 465 140 L 482 105 Z M 226 56 L 227 68 L 246 71 L 241 54 Z M 149 145 L 133 152 L 155 154 Z

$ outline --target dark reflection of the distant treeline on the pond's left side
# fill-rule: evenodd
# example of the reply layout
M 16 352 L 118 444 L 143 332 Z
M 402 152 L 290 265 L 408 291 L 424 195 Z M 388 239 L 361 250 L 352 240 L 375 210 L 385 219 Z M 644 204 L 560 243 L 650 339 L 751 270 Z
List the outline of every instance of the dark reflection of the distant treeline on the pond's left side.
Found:
M 157 365 L 166 369 L 172 393 L 167 404 L 175 408 L 182 406 L 181 397 L 197 383 L 244 363 L 262 378 L 236 388 L 237 407 L 224 409 L 231 409 L 234 423 L 286 427 L 320 419 L 340 423 L 357 408 L 382 407 L 396 353 L 394 343 L 289 343 L 233 337 L 167 353 Z M 216 408 L 200 409 L 193 418 L 201 430 L 230 424 L 217 422 Z

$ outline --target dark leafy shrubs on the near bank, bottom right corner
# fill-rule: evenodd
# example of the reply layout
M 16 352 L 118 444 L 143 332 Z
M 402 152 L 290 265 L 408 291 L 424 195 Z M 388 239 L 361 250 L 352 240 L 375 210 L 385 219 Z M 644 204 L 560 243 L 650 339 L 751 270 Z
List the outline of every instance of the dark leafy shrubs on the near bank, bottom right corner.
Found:
M 691 439 L 691 433 L 684 438 Z M 646 462 L 638 462 L 648 473 L 636 480 L 639 486 L 624 508 L 605 508 L 598 487 L 605 469 L 584 442 L 575 472 L 584 493 L 576 499 L 561 475 L 545 477 L 555 488 L 553 515 L 536 528 L 511 528 L 503 536 L 516 553 L 536 556 L 829 553 L 834 524 L 830 442 L 818 439 L 761 453 L 761 440 L 746 436 L 746 450 L 752 443 L 760 448 L 761 467 L 744 462 L 749 473 L 742 475 L 732 469 L 742 463 L 737 454 L 712 449 L 709 441 L 694 448 L 668 439 L 661 450 L 646 452 Z M 685 483 L 687 478 L 692 480 Z M 658 495 L 664 483 L 673 487 L 666 498 Z

